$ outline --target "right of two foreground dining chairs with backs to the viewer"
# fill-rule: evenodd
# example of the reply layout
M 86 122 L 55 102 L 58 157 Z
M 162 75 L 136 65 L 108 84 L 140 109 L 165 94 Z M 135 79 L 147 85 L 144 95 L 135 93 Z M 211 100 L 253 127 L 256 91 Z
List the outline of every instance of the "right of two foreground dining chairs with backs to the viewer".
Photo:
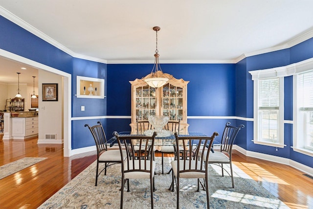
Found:
M 213 140 L 218 133 L 214 132 L 211 137 L 179 137 L 178 133 L 175 133 L 176 145 L 175 155 L 176 160 L 171 162 L 173 168 L 172 181 L 176 182 L 177 190 L 177 209 L 179 209 L 179 180 L 181 178 L 198 179 L 197 191 L 200 191 L 200 184 L 206 191 L 207 208 L 210 208 L 209 201 L 209 186 L 208 186 L 208 158 L 207 154 L 203 158 L 204 150 L 210 148 L 213 144 Z M 194 148 L 196 146 L 196 148 Z M 194 150 L 190 152 L 190 150 Z M 202 156 L 199 155 L 199 151 L 202 151 Z M 204 185 L 200 179 L 204 180 Z

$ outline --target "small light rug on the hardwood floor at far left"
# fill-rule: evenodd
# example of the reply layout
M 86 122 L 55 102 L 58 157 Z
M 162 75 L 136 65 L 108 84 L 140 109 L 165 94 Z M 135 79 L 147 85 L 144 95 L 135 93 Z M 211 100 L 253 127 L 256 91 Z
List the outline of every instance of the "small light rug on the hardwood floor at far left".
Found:
M 22 158 L 12 163 L 2 165 L 0 166 L 0 179 L 10 176 L 13 173 L 19 172 L 22 169 L 39 163 L 45 159 L 46 158 Z

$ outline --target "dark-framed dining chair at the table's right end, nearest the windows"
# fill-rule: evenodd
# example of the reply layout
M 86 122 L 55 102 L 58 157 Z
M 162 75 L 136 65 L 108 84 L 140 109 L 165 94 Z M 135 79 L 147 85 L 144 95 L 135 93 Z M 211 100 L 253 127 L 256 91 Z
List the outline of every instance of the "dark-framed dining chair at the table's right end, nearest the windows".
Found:
M 222 168 L 222 176 L 224 176 L 224 171 L 231 177 L 231 184 L 234 188 L 234 176 L 233 176 L 233 167 L 231 163 L 231 154 L 233 144 L 238 135 L 238 132 L 244 128 L 245 125 L 241 124 L 240 126 L 231 126 L 230 122 L 227 122 L 224 128 L 222 140 L 221 140 L 221 148 L 219 151 L 214 151 L 209 155 L 208 163 L 216 164 Z M 206 158 L 207 150 L 204 151 L 204 158 Z M 224 164 L 229 164 L 230 173 L 224 168 Z

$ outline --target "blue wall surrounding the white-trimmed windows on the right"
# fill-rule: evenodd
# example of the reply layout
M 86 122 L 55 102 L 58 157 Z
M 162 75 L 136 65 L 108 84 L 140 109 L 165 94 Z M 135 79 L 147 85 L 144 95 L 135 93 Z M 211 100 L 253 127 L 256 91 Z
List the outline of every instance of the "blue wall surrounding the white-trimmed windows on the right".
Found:
M 251 79 L 251 75 L 248 71 L 251 70 L 262 70 L 262 69 L 270 69 L 275 67 L 287 66 L 295 62 L 299 62 L 308 58 L 313 57 L 312 50 L 313 40 L 309 39 L 303 43 L 300 43 L 296 46 L 292 46 L 289 49 L 283 49 L 278 51 L 273 51 L 265 54 L 259 54 L 251 57 L 247 57 L 246 59 L 237 63 L 236 73 L 237 73 L 237 87 L 243 90 L 243 86 L 245 84 L 239 84 L 238 81 L 241 81 L 241 78 L 246 78 L 246 92 L 243 94 L 246 95 L 246 100 L 241 101 L 241 99 L 245 99 L 242 96 L 236 105 L 236 113 L 238 116 L 246 116 L 248 118 L 253 117 L 253 81 Z M 245 90 L 244 90 L 245 91 Z M 237 91 L 238 94 L 242 92 Z M 292 106 L 292 76 L 288 76 L 284 78 L 284 114 L 285 120 L 292 120 L 293 114 L 293 106 Z M 238 96 L 239 98 L 240 96 Z M 239 103 L 241 105 L 239 105 Z M 246 106 L 245 106 L 246 105 Z M 241 108 L 241 106 L 243 108 Z M 294 152 L 291 148 L 292 146 L 292 124 L 285 123 L 284 124 L 284 144 L 287 146 L 284 148 L 278 148 L 276 151 L 276 147 L 265 146 L 260 144 L 254 144 L 251 139 L 253 139 L 253 122 L 246 122 L 246 129 L 243 129 L 242 132 L 246 132 L 246 139 L 239 138 L 237 140 L 237 145 L 243 147 L 246 150 L 264 153 L 268 155 L 279 156 L 283 158 L 289 158 L 293 161 L 308 165 L 313 167 L 312 157 L 303 155 L 297 152 Z M 243 133 L 240 133 L 243 134 Z

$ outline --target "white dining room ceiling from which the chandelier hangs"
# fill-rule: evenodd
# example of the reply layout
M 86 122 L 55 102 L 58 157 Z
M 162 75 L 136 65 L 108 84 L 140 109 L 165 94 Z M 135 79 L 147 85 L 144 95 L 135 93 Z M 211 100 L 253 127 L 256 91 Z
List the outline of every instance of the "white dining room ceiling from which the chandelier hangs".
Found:
M 104 63 L 153 63 L 153 26 L 161 64 L 235 63 L 311 34 L 312 8 L 313 0 L 0 0 L 0 15 Z

